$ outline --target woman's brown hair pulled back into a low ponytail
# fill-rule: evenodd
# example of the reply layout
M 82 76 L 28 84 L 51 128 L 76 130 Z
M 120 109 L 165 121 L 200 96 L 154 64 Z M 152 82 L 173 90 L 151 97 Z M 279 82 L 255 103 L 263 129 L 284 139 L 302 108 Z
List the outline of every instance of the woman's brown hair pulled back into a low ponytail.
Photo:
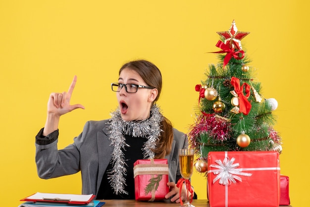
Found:
M 134 60 L 125 63 L 119 69 L 119 74 L 125 68 L 130 68 L 136 71 L 148 86 L 157 89 L 158 94 L 153 102 L 153 104 L 155 104 L 155 102 L 159 99 L 162 87 L 161 73 L 160 70 L 156 67 L 156 65 L 144 59 Z M 171 144 L 173 141 L 172 124 L 166 117 L 163 117 L 163 120 L 160 123 L 160 127 L 162 129 L 162 132 L 160 133 L 160 137 L 156 142 L 156 149 L 153 150 L 153 152 L 155 153 L 155 158 L 164 158 L 165 155 L 170 154 Z

